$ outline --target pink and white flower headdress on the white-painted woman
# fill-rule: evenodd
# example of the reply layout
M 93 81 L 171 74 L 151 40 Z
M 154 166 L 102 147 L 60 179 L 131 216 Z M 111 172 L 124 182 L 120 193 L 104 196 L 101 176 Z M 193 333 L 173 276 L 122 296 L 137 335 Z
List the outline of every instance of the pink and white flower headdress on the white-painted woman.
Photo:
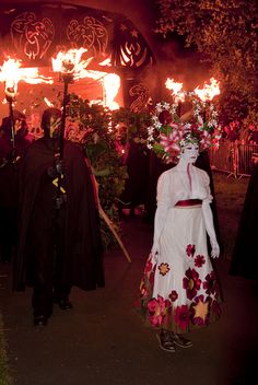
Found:
M 198 100 L 195 93 L 187 93 L 187 96 L 192 104 L 190 114 L 179 118 L 177 103 L 160 102 L 152 115 L 153 124 L 148 128 L 148 148 L 166 163 L 175 161 L 188 143 L 197 143 L 200 151 L 219 148 L 221 131 L 214 105 L 209 103 L 207 110 L 207 104 Z

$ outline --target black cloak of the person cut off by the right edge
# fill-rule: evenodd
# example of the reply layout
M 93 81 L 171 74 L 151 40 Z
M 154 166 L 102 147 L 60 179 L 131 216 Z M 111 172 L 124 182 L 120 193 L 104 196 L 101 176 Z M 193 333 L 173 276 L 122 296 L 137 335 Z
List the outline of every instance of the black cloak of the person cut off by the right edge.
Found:
M 254 166 L 247 187 L 230 267 L 231 276 L 258 278 L 258 163 Z

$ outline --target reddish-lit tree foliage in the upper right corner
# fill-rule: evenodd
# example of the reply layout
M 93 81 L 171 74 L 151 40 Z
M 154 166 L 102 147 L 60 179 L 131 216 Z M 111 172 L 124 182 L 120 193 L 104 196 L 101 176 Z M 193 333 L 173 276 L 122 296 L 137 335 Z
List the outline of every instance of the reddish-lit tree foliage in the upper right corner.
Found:
M 221 116 L 243 119 L 257 109 L 257 2 L 249 0 L 156 0 L 155 32 L 184 35 L 221 81 Z M 238 115 L 237 115 L 238 114 Z

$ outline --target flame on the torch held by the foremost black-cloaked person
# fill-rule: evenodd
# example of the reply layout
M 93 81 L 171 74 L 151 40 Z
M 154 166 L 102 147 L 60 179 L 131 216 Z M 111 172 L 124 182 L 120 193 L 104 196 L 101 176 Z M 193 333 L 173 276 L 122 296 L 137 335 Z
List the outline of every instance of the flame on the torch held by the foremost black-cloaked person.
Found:
M 85 68 L 92 60 L 81 60 L 82 54 L 86 52 L 87 49 L 69 49 L 68 51 L 59 51 L 56 58 L 52 60 L 54 72 L 61 72 L 62 74 L 72 75 L 73 80 L 86 78 Z

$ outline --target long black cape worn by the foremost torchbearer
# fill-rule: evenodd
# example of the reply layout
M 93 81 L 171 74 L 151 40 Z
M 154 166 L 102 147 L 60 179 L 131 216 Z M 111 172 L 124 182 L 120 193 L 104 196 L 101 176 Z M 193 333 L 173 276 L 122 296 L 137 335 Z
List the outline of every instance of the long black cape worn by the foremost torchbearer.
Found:
M 14 260 L 13 289 L 33 285 L 33 250 L 28 226 L 43 173 L 55 161 L 45 138 L 27 150 L 20 168 L 19 245 Z M 64 217 L 64 269 L 62 282 L 83 290 L 104 287 L 103 247 L 99 217 L 91 170 L 79 145 L 64 142 L 67 202 Z M 51 205 L 51 202 L 50 202 Z M 38 218 L 40 225 L 40 218 Z

